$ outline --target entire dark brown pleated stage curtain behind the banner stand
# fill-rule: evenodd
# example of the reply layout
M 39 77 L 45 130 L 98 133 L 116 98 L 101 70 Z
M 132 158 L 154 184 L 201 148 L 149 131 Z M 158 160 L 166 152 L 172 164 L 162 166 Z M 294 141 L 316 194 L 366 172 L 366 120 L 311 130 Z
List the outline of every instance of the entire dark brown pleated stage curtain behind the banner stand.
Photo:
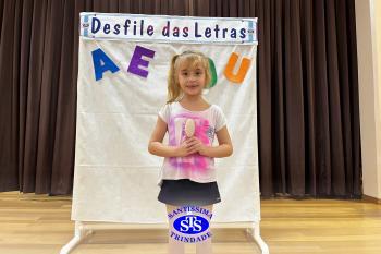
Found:
M 0 191 L 72 191 L 84 11 L 257 16 L 262 196 L 361 195 L 354 0 L 0 0 Z

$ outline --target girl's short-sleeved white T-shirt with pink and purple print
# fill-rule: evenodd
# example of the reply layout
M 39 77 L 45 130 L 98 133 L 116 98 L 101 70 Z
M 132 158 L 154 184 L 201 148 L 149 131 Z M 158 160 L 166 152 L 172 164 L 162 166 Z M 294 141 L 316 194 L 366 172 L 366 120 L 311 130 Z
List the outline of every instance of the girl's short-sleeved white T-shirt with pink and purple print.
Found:
M 195 122 L 194 136 L 208 146 L 213 144 L 216 132 L 226 125 L 226 118 L 217 105 L 211 105 L 202 111 L 190 111 L 175 101 L 163 106 L 159 111 L 159 117 L 168 125 L 170 146 L 179 146 L 187 138 L 185 134 L 187 119 L 193 119 Z M 163 179 L 189 179 L 200 183 L 213 182 L 217 180 L 214 158 L 201 156 L 198 153 L 186 157 L 165 157 L 159 178 L 159 185 Z

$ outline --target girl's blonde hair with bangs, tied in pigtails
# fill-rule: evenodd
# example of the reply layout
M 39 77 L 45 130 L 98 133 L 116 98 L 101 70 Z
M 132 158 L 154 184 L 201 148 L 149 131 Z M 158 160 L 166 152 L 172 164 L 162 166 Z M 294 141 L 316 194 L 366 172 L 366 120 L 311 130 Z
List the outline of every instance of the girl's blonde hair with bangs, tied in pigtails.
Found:
M 168 101 L 167 104 L 175 101 L 181 96 L 181 87 L 179 84 L 177 69 L 180 63 L 186 61 L 189 65 L 195 66 L 200 64 L 205 70 L 205 83 L 208 88 L 211 81 L 211 73 L 209 69 L 209 59 L 198 51 L 184 51 L 181 55 L 175 55 L 171 60 L 170 73 L 168 75 Z

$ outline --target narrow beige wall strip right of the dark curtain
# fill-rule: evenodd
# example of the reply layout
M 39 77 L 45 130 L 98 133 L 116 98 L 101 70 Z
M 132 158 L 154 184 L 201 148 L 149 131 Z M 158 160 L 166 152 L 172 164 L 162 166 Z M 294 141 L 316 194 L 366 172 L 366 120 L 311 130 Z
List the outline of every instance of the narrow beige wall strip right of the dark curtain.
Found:
M 381 1 L 355 4 L 364 194 L 381 201 Z

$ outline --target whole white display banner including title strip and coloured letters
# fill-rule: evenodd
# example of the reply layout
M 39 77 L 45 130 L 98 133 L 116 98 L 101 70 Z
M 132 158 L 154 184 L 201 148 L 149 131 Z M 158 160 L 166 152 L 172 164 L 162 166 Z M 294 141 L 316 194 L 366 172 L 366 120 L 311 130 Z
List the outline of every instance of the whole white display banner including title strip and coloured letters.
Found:
M 222 201 L 212 221 L 259 220 L 256 27 L 256 19 L 81 14 L 73 220 L 167 222 L 157 201 L 163 158 L 147 147 L 171 58 L 185 50 L 209 58 L 205 97 L 225 113 L 234 146 L 216 159 Z

